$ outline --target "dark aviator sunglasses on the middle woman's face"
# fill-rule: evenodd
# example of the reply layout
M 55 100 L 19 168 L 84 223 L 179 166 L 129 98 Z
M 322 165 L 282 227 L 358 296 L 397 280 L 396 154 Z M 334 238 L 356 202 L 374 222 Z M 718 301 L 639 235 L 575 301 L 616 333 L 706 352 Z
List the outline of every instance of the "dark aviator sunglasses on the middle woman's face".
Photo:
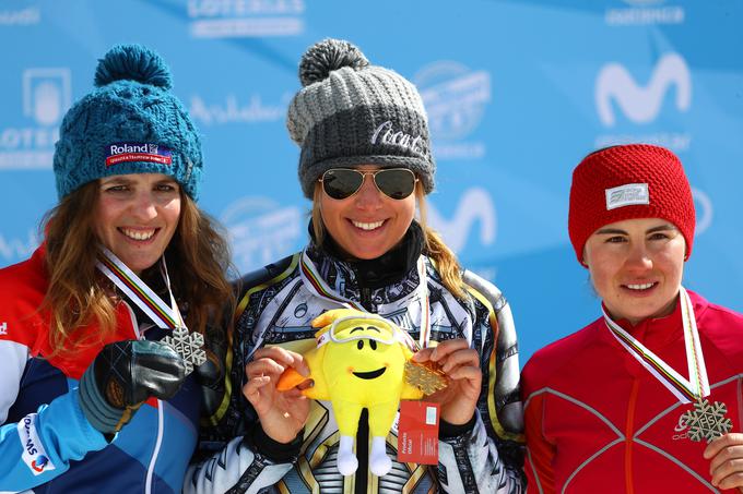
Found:
M 352 168 L 331 168 L 322 173 L 322 190 L 335 200 L 349 198 L 364 184 L 370 174 L 377 190 L 394 200 L 408 197 L 415 190 L 418 179 L 408 168 L 382 168 L 376 171 L 359 171 Z

